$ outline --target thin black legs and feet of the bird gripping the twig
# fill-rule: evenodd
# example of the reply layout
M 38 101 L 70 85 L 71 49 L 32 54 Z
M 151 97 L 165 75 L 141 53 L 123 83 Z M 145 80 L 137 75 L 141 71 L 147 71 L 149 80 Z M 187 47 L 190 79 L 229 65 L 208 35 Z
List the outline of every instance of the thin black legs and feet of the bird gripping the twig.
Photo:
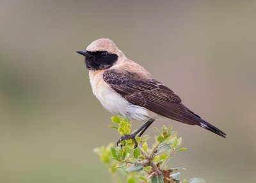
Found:
M 138 129 L 138 131 L 134 132 L 131 135 L 125 134 L 124 136 L 121 136 L 120 139 L 118 139 L 118 141 L 116 142 L 116 145 L 118 146 L 119 143 L 121 143 L 123 140 L 125 139 L 132 139 L 135 143 L 134 148 L 138 147 L 138 142 L 136 141 L 135 137 L 136 135 L 140 132 L 140 134 L 138 136 L 141 136 L 143 134 L 143 132 L 145 132 L 147 130 L 147 128 L 155 121 L 155 119 L 150 118 L 150 120 L 148 120 L 147 123 L 145 123 L 144 125 L 142 125 L 140 127 L 140 129 Z M 122 148 L 122 143 L 121 143 L 121 148 Z

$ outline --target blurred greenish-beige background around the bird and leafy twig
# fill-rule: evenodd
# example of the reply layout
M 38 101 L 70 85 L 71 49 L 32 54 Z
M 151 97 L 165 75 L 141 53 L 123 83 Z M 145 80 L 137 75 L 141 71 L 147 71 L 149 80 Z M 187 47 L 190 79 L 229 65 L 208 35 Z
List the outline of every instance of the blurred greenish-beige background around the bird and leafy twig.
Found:
M 0 182 L 111 182 L 92 149 L 116 141 L 84 50 L 111 38 L 227 139 L 172 120 L 182 179 L 255 182 L 256 1 L 0 2 Z M 133 129 L 141 123 L 133 124 Z

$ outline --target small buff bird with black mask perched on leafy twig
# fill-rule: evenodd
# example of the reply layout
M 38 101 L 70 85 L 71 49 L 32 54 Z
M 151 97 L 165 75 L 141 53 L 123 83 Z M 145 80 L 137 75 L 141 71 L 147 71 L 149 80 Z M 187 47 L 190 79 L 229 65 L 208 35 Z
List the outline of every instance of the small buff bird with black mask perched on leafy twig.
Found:
M 154 79 L 141 65 L 126 58 L 112 40 L 97 39 L 85 51 L 77 53 L 85 56 L 93 95 L 102 106 L 115 115 L 146 122 L 133 134 L 121 136 L 116 145 L 132 139 L 136 148 L 135 137 L 141 136 L 159 116 L 198 125 L 226 138 L 225 132 L 184 106 L 170 88 Z

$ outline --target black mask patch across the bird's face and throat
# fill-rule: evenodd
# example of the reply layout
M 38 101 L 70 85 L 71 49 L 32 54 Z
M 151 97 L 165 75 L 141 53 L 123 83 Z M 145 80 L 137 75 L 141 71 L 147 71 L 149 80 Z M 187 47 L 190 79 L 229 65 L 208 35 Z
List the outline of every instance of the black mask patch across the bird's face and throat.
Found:
M 107 51 L 87 51 L 89 56 L 85 57 L 85 64 L 88 70 L 104 70 L 112 67 L 118 60 L 117 54 Z

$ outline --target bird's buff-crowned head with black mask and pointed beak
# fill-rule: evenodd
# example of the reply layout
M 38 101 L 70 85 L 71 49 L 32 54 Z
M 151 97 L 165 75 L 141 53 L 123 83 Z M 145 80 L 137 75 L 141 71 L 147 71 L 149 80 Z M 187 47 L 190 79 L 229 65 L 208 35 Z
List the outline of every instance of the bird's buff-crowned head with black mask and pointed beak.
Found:
M 123 52 L 118 50 L 112 40 L 101 38 L 95 40 L 86 48 L 86 51 L 77 51 L 85 56 L 86 68 L 88 70 L 104 70 L 112 67 L 120 58 Z

